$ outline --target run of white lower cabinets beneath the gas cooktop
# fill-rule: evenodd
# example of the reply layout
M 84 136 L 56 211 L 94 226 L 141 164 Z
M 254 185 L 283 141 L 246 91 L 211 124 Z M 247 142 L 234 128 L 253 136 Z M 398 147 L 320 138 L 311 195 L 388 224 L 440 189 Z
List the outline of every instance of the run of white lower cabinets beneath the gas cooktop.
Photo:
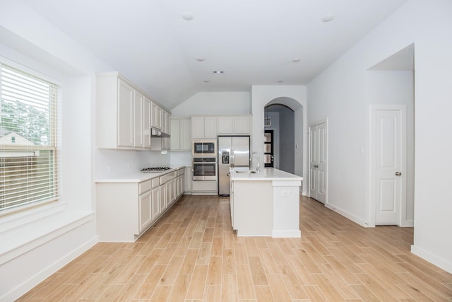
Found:
M 134 242 L 184 192 L 185 167 L 143 182 L 97 182 L 97 234 L 101 242 Z

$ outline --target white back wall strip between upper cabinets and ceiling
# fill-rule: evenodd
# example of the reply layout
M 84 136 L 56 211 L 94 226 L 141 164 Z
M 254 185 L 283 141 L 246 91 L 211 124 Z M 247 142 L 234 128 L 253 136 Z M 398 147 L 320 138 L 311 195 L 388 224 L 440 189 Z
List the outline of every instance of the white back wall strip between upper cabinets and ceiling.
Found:
M 249 92 L 199 92 L 171 110 L 173 117 L 249 115 Z

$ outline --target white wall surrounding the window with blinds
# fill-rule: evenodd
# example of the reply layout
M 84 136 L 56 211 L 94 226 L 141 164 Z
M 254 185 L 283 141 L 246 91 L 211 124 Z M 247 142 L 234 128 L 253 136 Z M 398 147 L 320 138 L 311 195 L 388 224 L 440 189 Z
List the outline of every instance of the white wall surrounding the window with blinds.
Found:
M 97 243 L 93 87 L 109 67 L 17 0 L 1 2 L 0 54 L 63 87 L 61 202 L 0 219 L 0 301 L 13 301 Z

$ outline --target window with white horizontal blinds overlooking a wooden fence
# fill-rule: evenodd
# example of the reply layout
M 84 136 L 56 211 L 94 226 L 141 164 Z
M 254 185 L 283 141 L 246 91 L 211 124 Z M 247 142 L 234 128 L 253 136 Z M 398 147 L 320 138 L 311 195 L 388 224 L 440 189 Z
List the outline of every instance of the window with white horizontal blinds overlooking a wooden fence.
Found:
M 59 86 L 0 66 L 1 215 L 59 199 Z

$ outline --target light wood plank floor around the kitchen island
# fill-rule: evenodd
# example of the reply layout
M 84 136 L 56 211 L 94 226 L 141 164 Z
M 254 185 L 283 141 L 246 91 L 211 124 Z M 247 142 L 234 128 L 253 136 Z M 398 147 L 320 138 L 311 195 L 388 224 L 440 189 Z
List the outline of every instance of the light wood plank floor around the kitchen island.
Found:
M 138 242 L 98 243 L 18 301 L 452 299 L 452 275 L 410 253 L 412 228 L 362 228 L 307 197 L 300 225 L 237 237 L 229 198 L 186 195 Z

